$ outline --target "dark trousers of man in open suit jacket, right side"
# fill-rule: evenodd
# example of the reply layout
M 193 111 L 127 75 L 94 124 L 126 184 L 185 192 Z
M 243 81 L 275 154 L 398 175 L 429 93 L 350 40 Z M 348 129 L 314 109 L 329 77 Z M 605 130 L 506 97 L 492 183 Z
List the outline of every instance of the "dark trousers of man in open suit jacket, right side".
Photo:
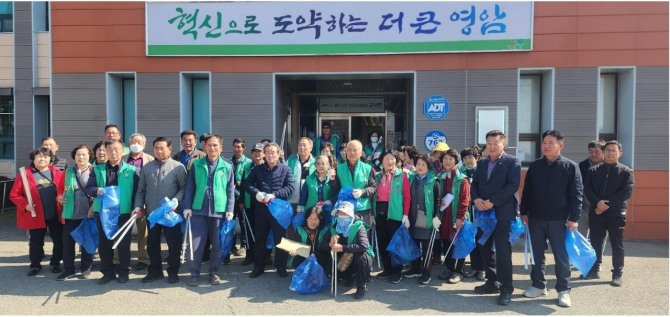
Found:
M 486 283 L 500 282 L 500 291 L 505 293 L 514 292 L 514 286 L 512 285 L 512 245 L 509 243 L 509 230 L 509 221 L 498 220 L 493 234 L 486 240 L 486 243 L 484 245 L 477 244 L 486 267 Z M 480 235 L 478 234 L 478 236 Z M 495 252 L 493 252 L 494 243 L 496 246 Z

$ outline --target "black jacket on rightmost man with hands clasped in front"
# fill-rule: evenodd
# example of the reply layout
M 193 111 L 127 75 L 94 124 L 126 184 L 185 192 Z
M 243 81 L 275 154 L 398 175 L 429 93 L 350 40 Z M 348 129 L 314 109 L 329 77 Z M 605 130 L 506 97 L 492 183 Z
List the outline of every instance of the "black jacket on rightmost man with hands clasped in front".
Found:
M 595 214 L 598 202 L 609 200 L 610 208 L 602 215 L 625 217 L 634 186 L 633 170 L 626 165 L 603 163 L 591 168 L 584 184 L 584 193 L 591 203 L 589 212 Z

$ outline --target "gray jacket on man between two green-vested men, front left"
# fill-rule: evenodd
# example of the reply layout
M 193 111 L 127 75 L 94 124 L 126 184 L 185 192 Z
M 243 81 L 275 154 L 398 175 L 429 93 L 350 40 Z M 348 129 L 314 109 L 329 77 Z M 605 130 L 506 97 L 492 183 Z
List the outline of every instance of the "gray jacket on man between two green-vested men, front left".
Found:
M 149 215 L 163 201 L 177 198 L 181 204 L 186 187 L 186 168 L 184 165 L 168 158 L 164 162 L 151 161 L 144 165 L 140 172 L 140 181 L 135 194 L 134 207 L 144 208 Z

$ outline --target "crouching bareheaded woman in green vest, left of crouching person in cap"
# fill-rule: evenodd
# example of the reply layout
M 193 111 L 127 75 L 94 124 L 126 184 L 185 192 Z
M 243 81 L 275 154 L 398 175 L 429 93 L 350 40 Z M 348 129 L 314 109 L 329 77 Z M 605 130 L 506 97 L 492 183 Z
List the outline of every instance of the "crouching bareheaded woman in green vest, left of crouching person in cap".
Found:
M 288 238 L 310 246 L 309 253 L 316 257 L 316 261 L 327 271 L 331 266 L 331 257 L 328 252 L 319 249 L 323 237 L 330 228 L 325 225 L 321 207 L 312 207 L 305 212 L 305 222 L 289 233 Z M 289 252 L 293 257 L 293 267 L 297 268 L 305 261 L 305 258 L 295 253 Z

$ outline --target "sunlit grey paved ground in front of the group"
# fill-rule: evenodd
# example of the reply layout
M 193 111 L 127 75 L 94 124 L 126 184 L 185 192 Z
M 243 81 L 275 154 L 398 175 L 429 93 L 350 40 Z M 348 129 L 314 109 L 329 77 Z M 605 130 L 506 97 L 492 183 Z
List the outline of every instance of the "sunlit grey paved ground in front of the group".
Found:
M 89 280 L 58 282 L 56 274 L 43 270 L 27 277 L 28 239 L 16 229 L 7 211 L 0 216 L 0 303 L 4 314 L 84 314 L 84 315 L 437 315 L 437 314 L 530 314 L 530 315 L 668 315 L 668 242 L 626 241 L 624 286 L 609 285 L 611 258 L 606 253 L 602 280 L 579 280 L 573 271 L 572 307 L 556 306 L 555 278 L 548 275 L 549 294 L 526 299 L 521 293 L 530 286 L 529 270 L 523 268 L 522 244 L 515 248 L 516 291 L 510 306 L 496 304 L 495 295 L 476 295 L 472 279 L 460 284 L 442 284 L 433 279 L 420 285 L 403 279 L 393 285 L 375 279 L 368 284 L 364 300 L 354 300 L 355 289 L 340 286 L 337 299 L 328 290 L 317 295 L 298 295 L 288 289 L 289 278 L 279 278 L 268 268 L 266 274 L 249 278 L 250 266 L 241 266 L 241 257 L 220 270 L 222 284 L 212 287 L 186 285 L 188 273 L 182 268 L 176 286 L 167 279 L 142 284 L 146 271 L 131 272 L 126 284 L 112 282 L 98 286 L 102 275 L 93 272 Z M 48 239 L 47 239 L 48 240 Z M 133 243 L 133 249 L 136 244 Z M 47 254 L 51 243 L 46 243 Z M 133 252 L 133 256 L 134 256 Z M 547 272 L 553 274 L 552 256 L 547 256 Z M 97 262 L 97 261 L 96 261 Z M 135 260 L 133 259 L 132 263 Z M 47 261 L 43 263 L 48 267 Z M 206 264 L 205 264 L 206 266 Z M 96 267 L 94 267 L 96 268 Z M 206 271 L 205 271 L 206 272 Z M 441 269 L 434 271 L 438 275 Z M 373 273 L 373 275 L 376 273 Z

